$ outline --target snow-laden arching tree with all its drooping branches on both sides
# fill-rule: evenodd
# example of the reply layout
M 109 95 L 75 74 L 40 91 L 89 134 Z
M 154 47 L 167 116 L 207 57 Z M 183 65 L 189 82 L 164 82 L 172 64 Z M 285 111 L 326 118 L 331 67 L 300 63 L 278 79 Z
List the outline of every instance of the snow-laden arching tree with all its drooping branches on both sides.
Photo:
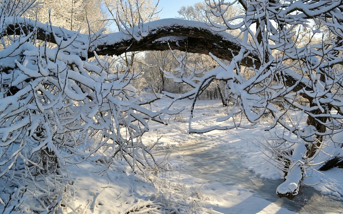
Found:
M 58 209 L 64 187 L 70 185 L 63 169 L 75 163 L 71 156 L 83 161 L 104 148 L 111 153 L 99 161 L 108 166 L 118 157 L 133 171 L 164 167 L 142 144 L 141 135 L 150 120 L 165 123 L 165 114 L 177 111 L 150 110 L 146 104 L 152 101 L 144 101 L 131 85 L 140 72 L 111 66 L 108 55 L 175 49 L 212 56 L 219 66 L 209 71 L 179 60 L 179 73 L 166 75 L 191 90 L 163 93 L 174 100 L 194 99 L 189 132 L 255 128 L 270 112 L 274 122 L 267 130 L 275 133 L 267 139 L 275 143 L 271 159 L 285 177 L 279 196 L 297 194 L 320 149 L 342 131 L 341 1 L 239 0 L 245 14 L 229 18 L 224 14 L 237 2 L 208 1 L 209 11 L 223 17 L 224 26 L 168 19 L 126 25 L 112 34 L 81 34 L 27 19 L 34 1 L 27 2 L 20 3 L 26 11 L 13 10 L 9 0 L 1 4 L 1 41 L 7 42 L 0 51 L 0 203 L 8 211 L 33 212 L 21 210 L 25 194 L 37 199 L 31 208 Z M 309 38 L 323 38 L 321 25 L 328 35 L 321 43 L 298 45 L 292 29 L 299 25 L 315 26 Z M 239 29 L 243 39 L 227 29 Z M 56 46 L 49 48 L 47 42 Z M 216 80 L 225 81 L 226 100 L 233 106 L 217 121 L 228 124 L 194 129 L 196 99 Z

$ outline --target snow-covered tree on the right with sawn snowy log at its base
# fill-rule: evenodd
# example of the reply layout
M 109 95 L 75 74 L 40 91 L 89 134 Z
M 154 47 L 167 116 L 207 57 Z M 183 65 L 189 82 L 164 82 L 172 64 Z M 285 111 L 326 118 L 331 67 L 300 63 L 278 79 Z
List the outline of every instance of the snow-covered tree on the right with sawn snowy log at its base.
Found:
M 212 52 L 220 66 L 205 73 L 200 83 L 195 75 L 187 80 L 171 77 L 192 85 L 192 94 L 184 96 L 194 99 L 212 81 L 226 81 L 226 100 L 234 108 L 218 121 L 234 124 L 202 130 L 192 129 L 190 124 L 190 132 L 254 128 L 261 116 L 270 112 L 274 122 L 266 131 L 275 137 L 267 139 L 266 147 L 285 178 L 276 192 L 293 198 L 303 177 L 314 170 L 318 152 L 342 131 L 342 70 L 338 66 L 342 64 L 342 2 L 238 0 L 245 14 L 234 17 L 225 14 L 236 1 L 207 2 L 209 12 L 223 18 L 225 24 L 210 20 L 212 30 L 239 29 L 240 45 L 231 48 L 228 65 L 216 59 L 223 56 Z M 326 35 L 320 30 L 322 26 L 328 29 Z M 307 34 L 307 41 L 294 36 L 300 30 Z M 222 40 L 217 42 L 223 46 Z M 237 114 L 243 117 L 240 121 L 235 121 Z

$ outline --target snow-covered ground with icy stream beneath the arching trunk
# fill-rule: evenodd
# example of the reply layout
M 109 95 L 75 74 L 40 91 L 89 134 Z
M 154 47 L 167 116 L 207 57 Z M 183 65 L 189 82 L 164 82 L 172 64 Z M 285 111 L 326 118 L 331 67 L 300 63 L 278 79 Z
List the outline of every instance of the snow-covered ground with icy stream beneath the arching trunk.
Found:
M 169 102 L 163 97 L 154 108 Z M 158 139 L 161 145 L 155 146 L 155 155 L 167 160 L 173 171 L 123 173 L 125 165 L 118 160 L 113 169 L 100 172 L 103 165 L 90 158 L 69 168 L 73 185 L 70 197 L 62 202 L 63 212 L 343 213 L 342 169 L 324 175 L 314 172 L 304 182 L 319 184 L 304 186 L 293 200 L 280 199 L 275 193 L 282 183 L 280 172 L 260 151 L 262 134 L 268 133 L 256 128 L 188 134 L 190 104 L 190 100 L 175 103 L 172 108 L 185 106 L 185 110 L 171 116 L 168 125 L 152 122 L 143 136 L 146 144 Z M 197 106 L 193 128 L 212 126 L 223 114 L 219 100 L 200 100 Z

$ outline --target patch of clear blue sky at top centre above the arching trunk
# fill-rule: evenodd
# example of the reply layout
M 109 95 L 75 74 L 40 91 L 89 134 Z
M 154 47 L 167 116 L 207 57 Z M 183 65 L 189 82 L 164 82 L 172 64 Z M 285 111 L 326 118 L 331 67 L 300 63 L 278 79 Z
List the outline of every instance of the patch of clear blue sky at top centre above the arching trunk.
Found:
M 193 5 L 203 0 L 159 0 L 158 8 L 162 11 L 159 13 L 160 18 L 175 18 L 178 16 L 177 11 L 181 6 Z

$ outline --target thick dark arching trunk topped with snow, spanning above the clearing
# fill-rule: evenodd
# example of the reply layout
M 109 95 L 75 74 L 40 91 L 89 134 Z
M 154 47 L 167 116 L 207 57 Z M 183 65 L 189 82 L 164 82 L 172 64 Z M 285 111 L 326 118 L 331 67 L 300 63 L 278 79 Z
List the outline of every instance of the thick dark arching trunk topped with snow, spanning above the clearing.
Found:
M 77 32 L 66 30 L 64 28 L 54 27 L 43 23 L 37 23 L 31 19 L 13 18 L 6 19 L 7 31 L 1 34 L 5 35 L 27 35 L 36 30 L 36 37 L 39 40 L 46 40 L 56 43 L 54 34 L 57 37 L 68 40 Z M 143 29 L 142 29 L 143 28 Z M 162 19 L 142 26 L 131 28 L 131 32 L 115 32 L 111 34 L 101 34 L 90 39 L 89 35 L 78 34 L 78 37 L 72 43 L 75 48 L 85 45 L 91 40 L 91 47 L 87 53 L 78 53 L 82 58 L 94 56 L 94 51 L 98 55 L 121 55 L 133 51 L 164 51 L 180 50 L 190 53 L 209 54 L 210 52 L 218 58 L 232 60 L 233 56 L 238 54 L 242 47 L 242 41 L 226 32 L 216 32 L 205 23 L 181 20 L 175 18 Z M 54 34 L 52 33 L 54 32 Z M 144 34 L 144 36 L 140 36 Z M 247 50 L 249 53 L 241 61 L 241 65 L 247 67 L 260 68 L 261 61 L 257 53 L 253 50 Z M 84 56 L 84 55 L 87 56 Z M 309 88 L 308 79 L 299 77 L 297 79 L 292 73 L 283 73 L 286 80 L 286 86 L 295 86 L 293 91 Z M 304 96 L 306 96 L 304 94 Z M 311 98 L 311 97 L 305 97 Z

